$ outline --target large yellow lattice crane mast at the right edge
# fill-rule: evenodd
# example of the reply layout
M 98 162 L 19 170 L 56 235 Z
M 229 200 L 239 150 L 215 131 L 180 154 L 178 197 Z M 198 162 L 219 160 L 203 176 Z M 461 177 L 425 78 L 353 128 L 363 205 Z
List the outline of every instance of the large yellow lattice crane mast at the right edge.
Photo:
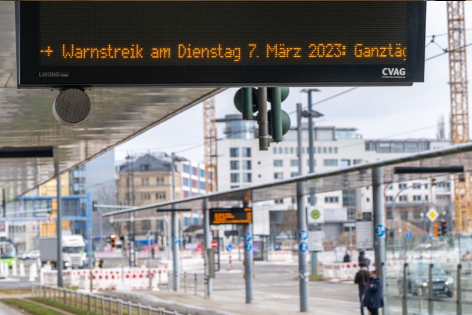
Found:
M 467 143 L 469 138 L 469 103 L 467 96 L 466 25 L 464 2 L 447 1 L 449 82 L 451 92 L 451 141 Z M 456 233 L 471 232 L 471 174 L 454 176 Z

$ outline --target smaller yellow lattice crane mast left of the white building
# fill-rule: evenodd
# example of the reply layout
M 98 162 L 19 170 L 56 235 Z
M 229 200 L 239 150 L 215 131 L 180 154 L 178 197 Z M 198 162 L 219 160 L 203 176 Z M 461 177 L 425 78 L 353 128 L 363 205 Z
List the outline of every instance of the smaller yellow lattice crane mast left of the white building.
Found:
M 216 114 L 215 98 L 203 101 L 203 138 L 205 154 L 205 188 L 206 192 L 216 191 Z

